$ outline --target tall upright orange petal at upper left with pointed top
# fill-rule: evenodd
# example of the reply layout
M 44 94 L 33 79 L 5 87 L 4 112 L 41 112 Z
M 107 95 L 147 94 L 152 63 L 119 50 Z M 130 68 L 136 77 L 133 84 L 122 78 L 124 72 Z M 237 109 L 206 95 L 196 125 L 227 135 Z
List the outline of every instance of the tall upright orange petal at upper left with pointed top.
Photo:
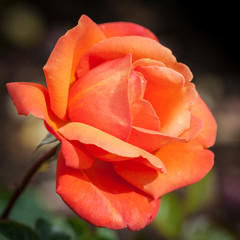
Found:
M 51 108 L 59 118 L 67 118 L 69 84 L 75 81 L 79 60 L 93 44 L 104 38 L 99 27 L 83 15 L 78 25 L 58 40 L 43 69 L 49 89 Z

